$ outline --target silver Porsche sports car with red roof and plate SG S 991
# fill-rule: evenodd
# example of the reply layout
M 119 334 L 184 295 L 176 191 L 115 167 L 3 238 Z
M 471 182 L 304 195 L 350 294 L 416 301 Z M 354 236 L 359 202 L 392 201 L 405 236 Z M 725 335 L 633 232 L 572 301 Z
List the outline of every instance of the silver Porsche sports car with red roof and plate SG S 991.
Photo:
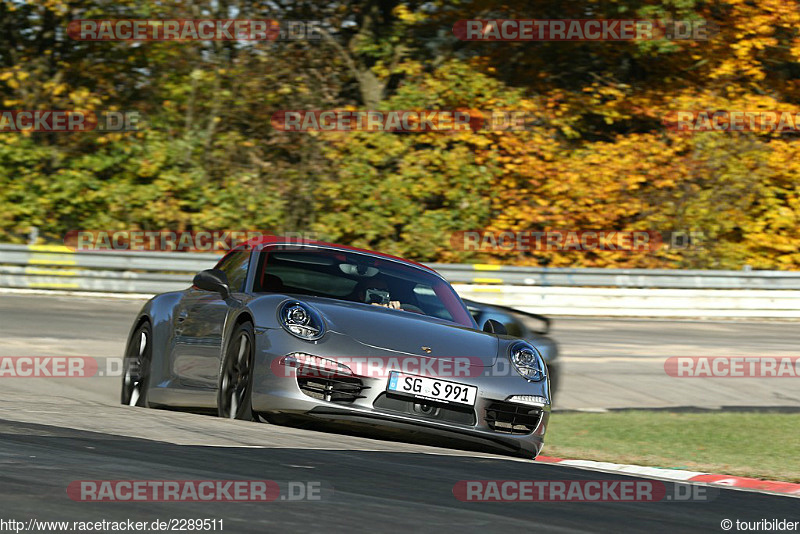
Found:
M 550 415 L 539 350 L 498 321 L 479 328 L 432 269 L 274 236 L 148 301 L 123 369 L 131 406 L 380 427 L 526 457 Z

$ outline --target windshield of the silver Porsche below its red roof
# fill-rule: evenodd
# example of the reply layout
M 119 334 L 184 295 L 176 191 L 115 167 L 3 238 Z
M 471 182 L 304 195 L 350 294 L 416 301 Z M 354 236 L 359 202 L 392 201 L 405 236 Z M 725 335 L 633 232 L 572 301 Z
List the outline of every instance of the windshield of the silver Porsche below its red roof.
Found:
M 270 247 L 259 258 L 253 290 L 359 302 L 475 326 L 455 291 L 438 276 L 357 252 Z

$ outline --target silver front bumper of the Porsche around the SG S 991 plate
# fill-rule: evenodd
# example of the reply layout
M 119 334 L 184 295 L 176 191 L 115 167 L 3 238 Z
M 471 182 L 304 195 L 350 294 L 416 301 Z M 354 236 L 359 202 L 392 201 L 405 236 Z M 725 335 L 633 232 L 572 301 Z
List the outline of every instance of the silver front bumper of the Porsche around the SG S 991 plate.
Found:
M 479 376 L 446 379 L 477 386 L 478 395 L 471 410 L 469 407 L 451 409 L 448 407 L 451 405 L 436 403 L 419 404 L 420 401 L 411 397 L 387 394 L 387 376 L 358 377 L 364 386 L 360 392 L 361 398 L 337 402 L 304 393 L 294 370 L 287 374 L 276 372 L 282 370 L 277 361 L 298 350 L 297 340 L 276 330 L 261 331 L 256 337 L 256 372 L 252 395 L 255 412 L 267 416 L 300 416 L 328 425 L 364 429 L 380 427 L 393 430 L 395 434 L 407 432 L 409 436 L 425 435 L 433 441 L 436 438 L 459 441 L 529 458 L 541 451 L 550 416 L 548 382 L 528 382 L 514 374 L 513 370 L 509 373 L 506 361 L 496 362 L 495 367 L 481 368 Z M 337 347 L 335 342 L 326 347 L 312 345 L 303 348 L 306 353 L 323 358 L 337 359 L 336 355 L 342 354 L 341 347 Z M 351 345 L 348 344 L 347 348 L 352 351 Z M 381 349 L 370 348 L 357 356 L 382 357 L 384 354 Z M 509 402 L 508 399 L 514 395 L 542 397 L 547 403 L 535 406 Z M 421 411 L 431 407 L 434 408 L 431 413 Z M 529 433 L 519 433 L 519 429 L 523 428 L 519 425 L 512 427 L 516 428 L 516 433 L 510 433 L 508 428 L 498 430 L 499 425 L 495 421 L 497 410 L 508 410 L 509 407 L 534 415 L 538 413 L 538 420 L 532 419 L 533 415 L 525 415 L 528 423 L 535 420 L 534 424 L 525 427 L 530 428 Z M 525 432 L 524 428 L 522 432 Z

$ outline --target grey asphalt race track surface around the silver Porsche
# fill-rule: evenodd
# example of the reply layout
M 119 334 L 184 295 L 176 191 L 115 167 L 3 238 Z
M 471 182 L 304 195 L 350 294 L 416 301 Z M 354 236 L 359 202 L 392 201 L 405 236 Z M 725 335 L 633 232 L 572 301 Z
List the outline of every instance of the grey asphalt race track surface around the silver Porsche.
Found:
M 119 357 L 140 305 L 114 299 L 0 294 L 4 340 L 0 356 Z M 653 384 L 663 384 L 665 391 L 658 395 L 664 396 L 675 383 L 664 382 L 664 377 L 657 375 L 658 365 L 650 360 L 660 357 L 663 364 L 663 355 L 653 347 L 669 352 L 662 344 L 673 340 L 675 345 L 677 333 L 677 345 L 691 350 L 727 348 L 737 354 L 746 350 L 789 355 L 799 341 L 797 330 L 787 323 L 704 326 L 558 320 L 554 335 L 566 340 L 562 341 L 563 402 L 584 402 L 570 399 L 579 393 L 577 386 L 595 383 L 580 378 L 581 373 L 588 373 L 581 369 L 592 358 L 602 362 L 594 369 L 610 367 L 609 376 L 619 374 L 615 366 L 633 366 Z M 660 372 L 663 374 L 663 368 Z M 453 487 L 462 480 L 631 477 L 372 437 L 119 406 L 119 382 L 119 377 L 0 379 L 0 520 L 206 518 L 223 520 L 225 532 L 504 532 L 521 528 L 542 532 L 722 532 L 723 519 L 800 520 L 798 499 L 730 489 L 719 490 L 706 502 L 461 502 L 454 497 Z M 621 387 L 616 384 L 613 387 Z M 601 386 L 596 385 L 595 392 L 602 393 L 598 388 Z M 705 396 L 694 394 L 709 406 L 730 405 L 728 401 L 736 398 L 728 396 L 726 389 Z M 713 398 L 715 394 L 719 398 Z M 787 398 L 777 396 L 763 402 L 798 405 L 796 386 L 781 394 Z M 650 399 L 649 403 L 673 401 L 668 395 L 658 395 L 655 400 L 652 395 L 640 396 Z M 748 404 L 753 404 L 752 399 L 739 403 Z M 66 493 L 70 482 L 77 480 L 205 479 L 274 480 L 281 487 L 289 482 L 319 483 L 322 498 L 270 503 L 98 503 L 76 502 Z

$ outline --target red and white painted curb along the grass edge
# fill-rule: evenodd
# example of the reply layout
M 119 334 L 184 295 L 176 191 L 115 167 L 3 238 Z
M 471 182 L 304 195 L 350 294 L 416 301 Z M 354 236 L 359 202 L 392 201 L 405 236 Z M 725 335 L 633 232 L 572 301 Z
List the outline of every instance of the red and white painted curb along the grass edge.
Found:
M 537 462 L 560 464 L 579 469 L 605 471 L 609 473 L 624 473 L 648 478 L 676 480 L 680 482 L 696 482 L 725 488 L 758 491 L 762 493 L 776 493 L 790 497 L 800 498 L 800 484 L 780 482 L 776 480 L 759 480 L 757 478 L 736 477 L 731 475 L 714 475 L 700 471 L 685 471 L 681 469 L 664 469 L 661 467 L 645 467 L 641 465 L 615 464 L 611 462 L 594 462 L 591 460 L 566 460 L 551 456 L 537 456 Z

